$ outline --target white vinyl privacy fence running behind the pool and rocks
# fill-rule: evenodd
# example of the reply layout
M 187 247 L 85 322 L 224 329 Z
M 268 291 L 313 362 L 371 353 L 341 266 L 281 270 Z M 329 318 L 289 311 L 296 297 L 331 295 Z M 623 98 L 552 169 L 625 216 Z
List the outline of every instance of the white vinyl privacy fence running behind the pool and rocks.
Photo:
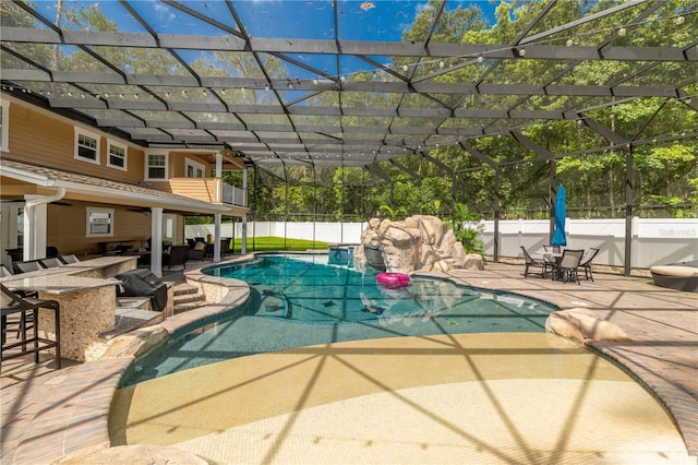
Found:
M 485 253 L 494 254 L 494 222 L 483 222 L 482 239 Z M 221 225 L 221 237 L 242 236 L 240 223 Z M 251 222 L 248 224 L 248 250 L 252 237 L 287 237 L 329 243 L 359 243 L 365 223 L 282 223 Z M 601 249 L 594 263 L 624 266 L 625 218 L 567 219 L 567 247 Z M 213 225 L 186 226 L 186 237 L 206 237 Z M 550 222 L 500 220 L 500 257 L 522 257 L 520 246 L 531 251 L 550 243 Z M 633 218 L 630 266 L 648 269 L 653 265 L 698 260 L 698 218 Z

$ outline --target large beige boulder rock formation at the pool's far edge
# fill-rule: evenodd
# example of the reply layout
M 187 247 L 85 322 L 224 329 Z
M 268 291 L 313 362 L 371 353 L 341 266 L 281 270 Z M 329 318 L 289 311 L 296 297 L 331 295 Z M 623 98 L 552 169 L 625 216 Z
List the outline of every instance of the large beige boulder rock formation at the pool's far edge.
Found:
M 469 267 L 482 270 L 481 257 L 479 262 L 468 258 Z M 466 251 L 450 224 L 436 216 L 414 215 L 402 222 L 371 218 L 361 234 L 361 246 L 354 248 L 353 261 L 358 271 L 448 271 L 464 266 Z

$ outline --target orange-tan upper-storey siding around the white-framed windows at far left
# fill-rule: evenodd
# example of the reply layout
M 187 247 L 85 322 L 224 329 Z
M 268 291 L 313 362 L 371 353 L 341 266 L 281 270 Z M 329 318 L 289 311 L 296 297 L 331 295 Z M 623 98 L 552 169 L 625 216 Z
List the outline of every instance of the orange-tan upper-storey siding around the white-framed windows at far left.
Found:
M 99 135 L 93 129 L 87 132 Z M 72 124 L 31 108 L 10 105 L 10 153 L 8 158 L 31 160 L 37 165 L 81 172 L 96 178 L 137 183 L 143 180 L 143 151 L 128 151 L 128 171 L 108 168 L 107 139 L 100 136 L 100 164 L 74 158 L 75 130 Z M 119 141 L 121 142 L 121 141 Z

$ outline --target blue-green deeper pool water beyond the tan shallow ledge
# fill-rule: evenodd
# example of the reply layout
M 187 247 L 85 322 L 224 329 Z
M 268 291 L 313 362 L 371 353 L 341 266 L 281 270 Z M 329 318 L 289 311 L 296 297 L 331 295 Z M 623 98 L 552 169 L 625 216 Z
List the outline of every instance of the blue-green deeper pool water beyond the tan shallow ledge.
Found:
M 543 332 L 556 309 L 514 294 L 412 276 L 385 289 L 376 273 L 327 254 L 266 254 L 205 270 L 250 285 L 245 307 L 179 337 L 134 365 L 127 384 L 272 350 L 342 341 L 433 334 Z

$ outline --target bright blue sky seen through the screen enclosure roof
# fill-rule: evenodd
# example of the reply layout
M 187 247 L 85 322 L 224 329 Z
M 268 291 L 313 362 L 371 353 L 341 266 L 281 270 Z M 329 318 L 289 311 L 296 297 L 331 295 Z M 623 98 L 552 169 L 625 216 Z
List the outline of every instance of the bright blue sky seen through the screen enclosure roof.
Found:
M 56 19 L 56 1 L 39 0 L 39 11 L 47 19 Z M 107 17 L 117 22 L 122 32 L 146 33 L 118 0 L 99 2 L 65 0 L 65 8 L 86 7 L 97 3 Z M 184 7 L 221 23 L 236 27 L 230 11 L 221 0 L 180 0 Z M 448 0 L 446 8 L 476 3 L 485 19 L 494 20 L 495 4 L 490 0 Z M 183 11 L 157 0 L 131 0 L 130 4 L 142 15 L 157 34 L 192 34 L 220 36 L 221 29 L 201 21 Z M 248 34 L 253 38 L 335 39 L 335 17 L 333 0 L 233 0 L 232 4 Z M 409 29 L 414 17 L 428 7 L 426 0 L 337 0 L 338 29 L 342 40 L 399 41 Z M 196 50 L 181 50 L 188 61 L 196 58 Z M 337 74 L 334 56 L 290 55 L 310 63 L 328 75 Z M 384 61 L 384 58 L 380 59 Z M 312 63 L 311 63 L 312 62 Z M 385 62 L 383 64 L 388 65 Z M 292 64 L 289 64 L 293 68 Z M 340 74 L 365 70 L 366 63 L 358 58 L 344 57 Z M 300 79 L 311 79 L 308 71 L 300 68 L 289 70 Z

